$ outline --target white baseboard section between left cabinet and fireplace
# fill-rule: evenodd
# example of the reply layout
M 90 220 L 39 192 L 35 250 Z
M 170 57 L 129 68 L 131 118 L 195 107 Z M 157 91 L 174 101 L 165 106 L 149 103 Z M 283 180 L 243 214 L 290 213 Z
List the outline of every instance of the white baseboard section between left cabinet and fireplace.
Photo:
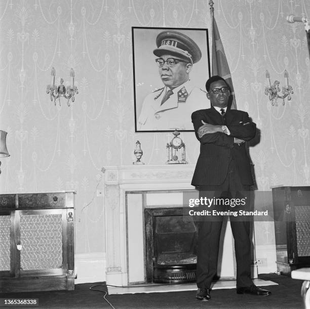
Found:
M 106 281 L 105 252 L 89 252 L 75 254 L 74 284 Z

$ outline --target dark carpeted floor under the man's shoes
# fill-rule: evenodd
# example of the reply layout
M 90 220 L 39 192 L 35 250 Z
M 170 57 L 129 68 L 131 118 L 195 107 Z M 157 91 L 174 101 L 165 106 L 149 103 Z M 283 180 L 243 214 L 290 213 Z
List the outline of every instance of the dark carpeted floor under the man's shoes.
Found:
M 211 300 L 196 300 L 196 291 L 168 293 L 139 293 L 106 295 L 115 309 L 189 309 L 189 308 L 303 308 L 300 289 L 301 280 L 275 274 L 259 275 L 260 279 L 271 280 L 279 285 L 266 287 L 272 291 L 270 296 L 238 295 L 236 289 L 211 291 Z M 91 291 L 89 288 L 100 283 L 75 285 L 74 291 L 49 291 L 1 294 L 0 298 L 38 298 L 39 305 L 33 308 L 111 308 L 104 300 L 105 293 Z M 96 287 L 106 291 L 106 286 Z M 12 307 L 11 307 L 12 308 Z M 16 307 L 20 308 L 20 307 Z

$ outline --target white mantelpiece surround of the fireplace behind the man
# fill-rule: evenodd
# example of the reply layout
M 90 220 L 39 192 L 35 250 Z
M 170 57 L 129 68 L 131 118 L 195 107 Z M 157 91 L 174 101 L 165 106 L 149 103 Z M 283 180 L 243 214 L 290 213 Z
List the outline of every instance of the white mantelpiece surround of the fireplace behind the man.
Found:
M 190 184 L 195 166 L 131 165 L 104 169 L 106 283 L 128 286 L 143 282 L 143 207 L 181 206 L 181 190 L 195 189 Z M 140 192 L 130 194 L 137 191 Z M 142 195 L 141 191 L 151 191 L 152 194 Z M 234 277 L 234 254 L 228 225 L 221 276 Z

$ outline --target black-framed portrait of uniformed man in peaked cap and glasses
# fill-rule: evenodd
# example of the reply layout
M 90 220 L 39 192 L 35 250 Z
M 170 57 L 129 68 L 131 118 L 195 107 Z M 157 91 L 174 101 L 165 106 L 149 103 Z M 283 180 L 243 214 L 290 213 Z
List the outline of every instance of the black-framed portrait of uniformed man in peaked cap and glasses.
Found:
M 167 36 L 169 40 L 170 33 L 175 31 L 186 35 L 197 44 L 201 51 L 201 58 L 197 63 L 192 64 L 189 72 L 189 81 L 185 87 L 185 101 L 184 98 L 181 101 L 180 93 L 175 91 L 171 100 L 164 102 L 167 105 L 165 107 L 163 103 L 161 104 L 161 97 L 164 96 L 163 92 L 169 88 L 164 84 L 162 75 L 160 75 L 161 70 L 156 63 L 159 57 L 154 55 L 153 51 L 158 48 L 157 37 L 160 33 L 164 32 L 161 37 Z M 172 132 L 175 129 L 181 132 L 194 131 L 191 124 L 191 112 L 210 107 L 205 89 L 205 83 L 211 76 L 208 29 L 132 27 L 132 49 L 135 132 Z M 173 68 L 170 73 L 168 73 L 168 64 L 165 68 L 167 74 L 173 75 Z M 176 87 L 175 90 L 184 92 L 184 88 L 180 87 Z M 172 105 L 170 101 L 173 101 Z M 143 112 L 141 112 L 142 108 Z M 160 112 L 158 108 L 161 109 Z

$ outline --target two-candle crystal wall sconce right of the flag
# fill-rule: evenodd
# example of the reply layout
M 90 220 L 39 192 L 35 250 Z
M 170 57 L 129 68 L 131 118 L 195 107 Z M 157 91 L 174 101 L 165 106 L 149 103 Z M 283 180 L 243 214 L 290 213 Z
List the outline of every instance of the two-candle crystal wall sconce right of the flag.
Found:
M 272 101 L 272 105 L 278 106 L 277 99 L 280 98 L 283 100 L 283 105 L 285 105 L 285 98 L 287 100 L 291 99 L 291 95 L 293 94 L 293 88 L 291 85 L 288 84 L 288 72 L 287 70 L 284 70 L 284 79 L 285 79 L 285 86 L 282 88 L 282 95 L 278 94 L 280 92 L 280 82 L 275 81 L 273 85 L 270 84 L 270 74 L 266 70 L 266 80 L 267 80 L 267 86 L 265 87 L 265 95 L 269 96 L 269 100 Z

